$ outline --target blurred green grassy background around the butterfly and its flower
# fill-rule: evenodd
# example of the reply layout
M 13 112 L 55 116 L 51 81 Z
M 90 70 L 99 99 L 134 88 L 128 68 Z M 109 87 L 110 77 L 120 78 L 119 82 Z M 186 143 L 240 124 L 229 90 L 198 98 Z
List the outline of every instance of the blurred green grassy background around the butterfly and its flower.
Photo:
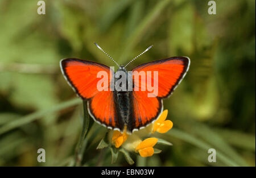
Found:
M 134 165 L 255 166 L 255 1 L 89 0 L 0 1 L 0 165 L 72 165 L 82 129 L 82 101 L 59 61 L 68 57 L 114 65 L 188 56 L 191 67 L 164 100 L 173 146 Z M 82 165 L 129 165 L 96 150 L 106 129 L 88 134 Z M 46 163 L 37 150 L 46 150 Z M 215 148 L 217 162 L 208 162 Z

